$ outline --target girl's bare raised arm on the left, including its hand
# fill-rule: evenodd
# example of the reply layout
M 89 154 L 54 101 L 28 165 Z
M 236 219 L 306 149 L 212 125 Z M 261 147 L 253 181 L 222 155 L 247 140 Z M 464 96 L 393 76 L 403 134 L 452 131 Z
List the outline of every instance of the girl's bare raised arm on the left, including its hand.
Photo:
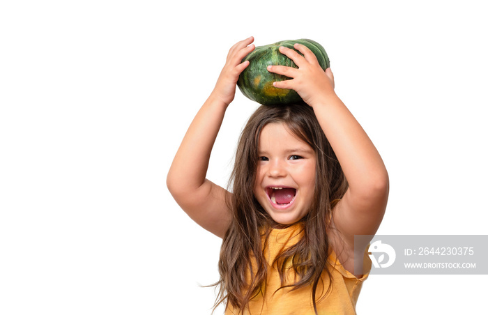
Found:
M 242 40 L 229 50 L 215 89 L 190 124 L 166 180 L 169 192 L 185 213 L 220 237 L 231 220 L 225 203 L 230 192 L 206 179 L 206 171 L 225 111 L 234 100 L 238 77 L 249 65 L 249 61 L 241 61 L 254 49 L 250 45 L 253 40 Z

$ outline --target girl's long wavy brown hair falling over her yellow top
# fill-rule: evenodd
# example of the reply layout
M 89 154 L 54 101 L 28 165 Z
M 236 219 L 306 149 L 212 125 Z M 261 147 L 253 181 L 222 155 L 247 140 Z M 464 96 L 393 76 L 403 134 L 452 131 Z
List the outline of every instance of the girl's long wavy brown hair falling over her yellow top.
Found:
M 280 274 L 280 289 L 293 286 L 292 290 L 296 290 L 312 286 L 312 300 L 317 314 L 317 285 L 323 272 L 330 279 L 330 272 L 326 268 L 329 252 L 326 230 L 332 212 L 330 203 L 344 196 L 348 184 L 312 107 L 306 104 L 260 106 L 241 133 L 229 181 L 233 194 L 227 201 L 233 220 L 220 250 L 220 280 L 214 284 L 219 286 L 220 291 L 215 307 L 227 302 L 227 305 L 244 312 L 250 300 L 266 290 L 268 263 L 263 247 L 266 246 L 270 226 L 275 222 L 254 197 L 252 187 L 257 174 L 259 135 L 268 123 L 284 123 L 290 132 L 314 149 L 317 157 L 314 200 L 302 219 L 302 238 L 296 245 L 281 252 L 273 262 Z M 261 243 L 263 238 L 265 245 Z M 287 262 L 291 262 L 298 282 L 285 286 Z M 330 290 L 330 283 L 326 294 Z

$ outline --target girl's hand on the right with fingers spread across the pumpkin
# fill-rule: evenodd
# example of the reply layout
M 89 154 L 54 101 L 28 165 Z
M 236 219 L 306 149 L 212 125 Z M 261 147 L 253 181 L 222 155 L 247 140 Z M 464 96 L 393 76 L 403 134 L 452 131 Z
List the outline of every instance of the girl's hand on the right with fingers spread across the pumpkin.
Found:
M 274 82 L 279 89 L 293 89 L 310 106 L 326 102 L 334 92 L 334 75 L 330 68 L 323 71 L 315 54 L 305 45 L 293 46 L 303 56 L 293 49 L 280 47 L 280 52 L 298 66 L 298 69 L 287 66 L 268 66 L 268 71 L 291 77 L 289 80 Z

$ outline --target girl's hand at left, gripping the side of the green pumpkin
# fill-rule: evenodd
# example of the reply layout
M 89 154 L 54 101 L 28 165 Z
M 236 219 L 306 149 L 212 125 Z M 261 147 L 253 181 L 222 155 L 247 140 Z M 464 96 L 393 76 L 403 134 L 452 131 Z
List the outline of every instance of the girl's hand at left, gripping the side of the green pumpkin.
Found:
M 241 61 L 247 54 L 254 50 L 254 45 L 250 45 L 253 41 L 254 38 L 251 36 L 250 38 L 241 40 L 229 49 L 227 61 L 220 72 L 215 88 L 211 94 L 218 100 L 224 102 L 226 106 L 234 100 L 239 75 L 241 75 L 241 72 L 249 66 L 249 61 L 244 61 L 243 63 L 241 63 Z

